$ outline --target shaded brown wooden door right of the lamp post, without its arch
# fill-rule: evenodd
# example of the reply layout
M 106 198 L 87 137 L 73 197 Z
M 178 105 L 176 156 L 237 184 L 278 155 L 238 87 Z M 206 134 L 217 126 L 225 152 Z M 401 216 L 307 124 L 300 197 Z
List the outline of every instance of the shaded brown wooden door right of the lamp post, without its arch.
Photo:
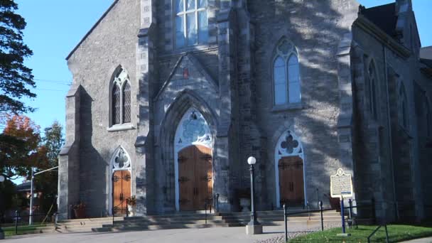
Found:
M 281 205 L 304 205 L 303 160 L 298 156 L 279 160 L 279 195 Z

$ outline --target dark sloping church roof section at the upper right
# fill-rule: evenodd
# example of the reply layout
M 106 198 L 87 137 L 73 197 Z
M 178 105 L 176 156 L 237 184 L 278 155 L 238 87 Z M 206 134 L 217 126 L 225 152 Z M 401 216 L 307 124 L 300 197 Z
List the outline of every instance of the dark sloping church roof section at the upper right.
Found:
M 382 29 L 389 36 L 396 35 L 396 4 L 385 4 L 362 10 L 363 16 Z

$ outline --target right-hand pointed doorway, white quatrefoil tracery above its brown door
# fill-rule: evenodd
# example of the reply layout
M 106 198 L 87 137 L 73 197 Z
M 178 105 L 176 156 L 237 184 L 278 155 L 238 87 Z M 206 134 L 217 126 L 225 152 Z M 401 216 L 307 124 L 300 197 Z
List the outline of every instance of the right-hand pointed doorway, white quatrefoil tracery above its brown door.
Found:
M 304 206 L 306 187 L 304 183 L 303 146 L 292 131 L 279 138 L 275 152 L 276 206 Z

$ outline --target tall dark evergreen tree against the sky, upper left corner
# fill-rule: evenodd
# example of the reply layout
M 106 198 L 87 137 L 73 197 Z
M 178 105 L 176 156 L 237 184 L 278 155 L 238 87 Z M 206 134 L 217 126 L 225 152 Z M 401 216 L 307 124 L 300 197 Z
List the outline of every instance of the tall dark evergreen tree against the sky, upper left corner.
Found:
M 23 43 L 26 21 L 15 13 L 13 0 L 0 0 L 0 113 L 31 112 L 22 97 L 36 97 L 29 87 L 36 87 L 32 70 L 23 64 L 33 52 Z

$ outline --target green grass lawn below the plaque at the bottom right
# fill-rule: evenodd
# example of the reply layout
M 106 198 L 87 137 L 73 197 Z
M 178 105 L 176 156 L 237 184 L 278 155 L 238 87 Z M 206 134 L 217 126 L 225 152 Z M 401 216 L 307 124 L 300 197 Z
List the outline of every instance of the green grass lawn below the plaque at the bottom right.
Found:
M 288 240 L 288 242 L 367 242 L 367 237 L 377 226 L 359 225 L 358 229 L 353 227 L 347 229 L 350 237 L 338 237 L 337 234 L 342 232 L 340 228 L 328 229 L 324 232 L 315 232 L 306 234 L 301 237 Z M 401 242 L 409 239 L 417 239 L 422 237 L 432 237 L 432 227 L 413 226 L 413 225 L 388 225 L 389 241 Z M 385 242 L 386 234 L 384 227 L 378 230 L 371 238 L 371 242 Z

